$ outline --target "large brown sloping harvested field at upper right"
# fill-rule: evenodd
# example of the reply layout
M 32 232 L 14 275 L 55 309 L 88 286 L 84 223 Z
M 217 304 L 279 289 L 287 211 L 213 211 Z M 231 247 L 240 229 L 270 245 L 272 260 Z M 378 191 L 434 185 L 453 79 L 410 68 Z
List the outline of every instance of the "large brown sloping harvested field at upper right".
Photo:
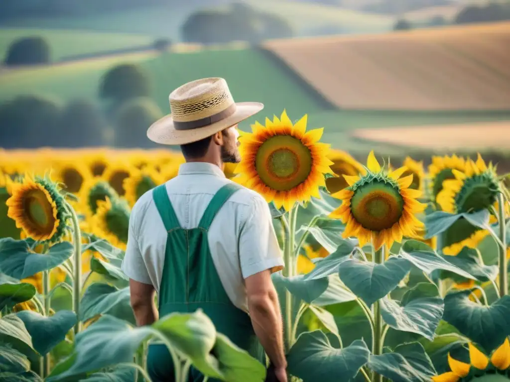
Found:
M 279 59 L 340 108 L 510 109 L 510 22 L 275 40 Z

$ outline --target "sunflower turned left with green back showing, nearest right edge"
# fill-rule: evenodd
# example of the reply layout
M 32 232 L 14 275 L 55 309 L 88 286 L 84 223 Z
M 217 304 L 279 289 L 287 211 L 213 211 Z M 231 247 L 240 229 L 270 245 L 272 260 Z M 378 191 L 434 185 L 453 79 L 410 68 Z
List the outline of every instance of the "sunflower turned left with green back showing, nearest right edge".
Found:
M 478 154 L 476 162 L 468 159 L 464 170 L 453 169 L 452 174 L 454 178 L 444 180 L 443 189 L 437 195 L 443 211 L 477 212 L 494 206 L 501 189 L 492 163 L 487 167 Z

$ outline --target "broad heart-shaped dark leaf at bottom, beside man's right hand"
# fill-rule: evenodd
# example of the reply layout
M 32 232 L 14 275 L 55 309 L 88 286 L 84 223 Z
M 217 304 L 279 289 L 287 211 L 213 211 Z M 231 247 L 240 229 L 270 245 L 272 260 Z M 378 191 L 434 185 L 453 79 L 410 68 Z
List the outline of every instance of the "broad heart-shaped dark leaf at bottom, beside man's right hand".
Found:
M 349 382 L 368 362 L 365 341 L 356 340 L 343 349 L 331 346 L 326 335 L 316 330 L 302 333 L 287 355 L 288 369 L 303 382 Z

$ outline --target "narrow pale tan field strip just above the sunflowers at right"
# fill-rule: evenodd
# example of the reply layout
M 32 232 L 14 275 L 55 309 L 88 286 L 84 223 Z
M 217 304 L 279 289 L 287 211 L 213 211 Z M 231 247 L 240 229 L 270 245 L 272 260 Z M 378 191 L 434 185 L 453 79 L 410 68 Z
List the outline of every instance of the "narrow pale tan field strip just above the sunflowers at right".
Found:
M 510 121 L 458 125 L 359 129 L 351 138 L 433 150 L 508 149 Z

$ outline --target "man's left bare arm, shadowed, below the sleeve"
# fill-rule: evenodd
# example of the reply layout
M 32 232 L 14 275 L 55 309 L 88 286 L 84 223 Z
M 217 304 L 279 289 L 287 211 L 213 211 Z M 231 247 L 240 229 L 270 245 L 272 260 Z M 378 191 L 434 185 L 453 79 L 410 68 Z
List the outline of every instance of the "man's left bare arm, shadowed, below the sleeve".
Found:
M 131 308 L 138 326 L 150 325 L 158 319 L 158 310 L 154 302 L 156 290 L 152 285 L 143 284 L 133 279 L 129 282 Z

